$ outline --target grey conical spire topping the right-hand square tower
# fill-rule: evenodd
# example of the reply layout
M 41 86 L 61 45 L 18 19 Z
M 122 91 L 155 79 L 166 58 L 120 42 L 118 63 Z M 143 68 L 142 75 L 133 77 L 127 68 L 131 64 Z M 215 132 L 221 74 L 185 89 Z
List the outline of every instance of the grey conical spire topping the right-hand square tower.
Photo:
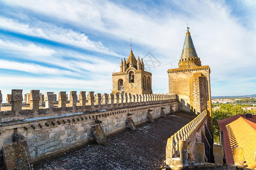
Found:
M 201 66 L 200 58 L 196 54 L 196 49 L 188 29 L 189 28 L 187 28 L 183 50 L 179 61 L 179 67 Z

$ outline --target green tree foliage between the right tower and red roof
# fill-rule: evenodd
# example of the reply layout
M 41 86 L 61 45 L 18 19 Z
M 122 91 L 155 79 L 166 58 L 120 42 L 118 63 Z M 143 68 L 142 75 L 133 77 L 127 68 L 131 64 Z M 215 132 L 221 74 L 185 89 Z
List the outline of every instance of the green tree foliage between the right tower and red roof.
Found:
M 242 105 L 222 104 L 219 109 L 213 109 L 212 122 L 213 122 L 213 138 L 215 143 L 220 143 L 220 129 L 218 128 L 217 120 L 222 120 L 227 117 L 232 117 L 237 114 L 248 113 L 242 109 Z

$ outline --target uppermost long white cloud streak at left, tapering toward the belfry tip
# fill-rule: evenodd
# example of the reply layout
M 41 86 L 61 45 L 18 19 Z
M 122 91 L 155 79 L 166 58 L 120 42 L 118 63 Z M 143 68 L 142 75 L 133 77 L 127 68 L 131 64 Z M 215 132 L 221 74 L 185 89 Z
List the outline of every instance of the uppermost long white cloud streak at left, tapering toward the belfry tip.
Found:
M 70 28 L 57 27 L 55 24 L 46 22 L 21 23 L 18 20 L 5 18 L 0 16 L 0 28 L 8 31 L 22 33 L 28 36 L 40 37 L 42 39 L 60 42 L 61 44 L 68 44 L 77 46 L 82 49 L 92 50 L 109 54 L 112 56 L 119 56 L 114 52 L 110 52 L 106 46 L 100 41 L 92 41 L 84 33 L 73 31 Z

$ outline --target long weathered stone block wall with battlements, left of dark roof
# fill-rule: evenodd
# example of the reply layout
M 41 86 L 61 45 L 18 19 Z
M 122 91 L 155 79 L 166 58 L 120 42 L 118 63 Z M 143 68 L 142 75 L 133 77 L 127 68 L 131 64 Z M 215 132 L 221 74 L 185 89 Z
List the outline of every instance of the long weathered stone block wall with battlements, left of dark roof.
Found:
M 39 94 L 38 91 L 31 92 L 32 95 L 34 92 L 36 95 Z M 177 111 L 176 95 L 167 95 L 166 97 L 159 95 L 158 100 L 151 99 L 151 101 L 149 96 L 145 96 L 146 98 L 141 102 L 130 102 L 130 96 L 135 97 L 135 95 L 127 94 L 127 103 L 122 103 L 126 95 L 121 95 L 121 99 L 117 102 L 119 94 L 104 94 L 104 97 L 97 94 L 98 103 L 95 104 L 94 92 L 88 93 L 88 102 L 85 102 L 86 96 L 83 91 L 79 96 L 83 100 L 80 101 L 80 104 L 76 106 L 67 104 L 66 106 L 64 105 L 65 94 L 66 92 L 60 92 L 61 104 L 59 107 L 45 109 L 33 107 L 34 109 L 22 110 L 20 105 L 22 90 L 13 90 L 12 96 L 18 103 L 13 103 L 12 100 L 13 111 L 0 112 L 0 147 L 12 142 L 12 134 L 23 135 L 30 152 L 31 162 L 35 163 L 94 140 L 91 128 L 96 124 L 96 120 L 101 121 L 102 129 L 108 136 L 128 128 L 126 121 L 128 116 L 133 119 L 135 125 L 139 125 L 148 121 L 148 109 L 152 110 L 152 118 L 161 117 L 161 111 L 165 114 L 172 110 Z M 162 96 L 162 100 L 160 100 L 160 96 Z M 48 105 L 52 105 L 53 98 L 53 94 L 47 92 L 46 103 L 48 101 Z M 104 98 L 105 101 L 100 98 Z M 116 99 L 115 103 L 114 99 Z M 109 101 L 109 104 L 104 104 L 106 100 Z

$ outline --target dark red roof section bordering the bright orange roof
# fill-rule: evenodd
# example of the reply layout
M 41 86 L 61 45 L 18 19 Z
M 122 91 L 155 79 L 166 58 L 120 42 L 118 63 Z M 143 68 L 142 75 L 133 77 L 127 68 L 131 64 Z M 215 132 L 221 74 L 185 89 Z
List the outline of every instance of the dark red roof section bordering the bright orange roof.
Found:
M 228 130 L 226 129 L 226 125 L 230 124 L 233 121 L 236 121 L 240 117 L 244 118 L 245 120 L 249 120 L 249 121 L 246 121 L 248 124 L 250 124 L 250 121 L 256 123 L 256 115 L 252 114 L 251 116 L 252 118 L 246 118 L 245 114 L 237 114 L 236 116 L 224 118 L 223 120 L 217 120 L 218 128 L 220 128 L 220 131 L 223 131 L 223 139 L 224 139 L 223 147 L 224 147 L 224 154 L 225 154 L 227 164 L 234 164 L 234 159 L 233 159 L 233 152 L 230 145 L 229 135 L 228 135 Z M 250 124 L 250 125 L 254 129 L 256 129 L 254 127 L 255 126 L 254 124 Z

